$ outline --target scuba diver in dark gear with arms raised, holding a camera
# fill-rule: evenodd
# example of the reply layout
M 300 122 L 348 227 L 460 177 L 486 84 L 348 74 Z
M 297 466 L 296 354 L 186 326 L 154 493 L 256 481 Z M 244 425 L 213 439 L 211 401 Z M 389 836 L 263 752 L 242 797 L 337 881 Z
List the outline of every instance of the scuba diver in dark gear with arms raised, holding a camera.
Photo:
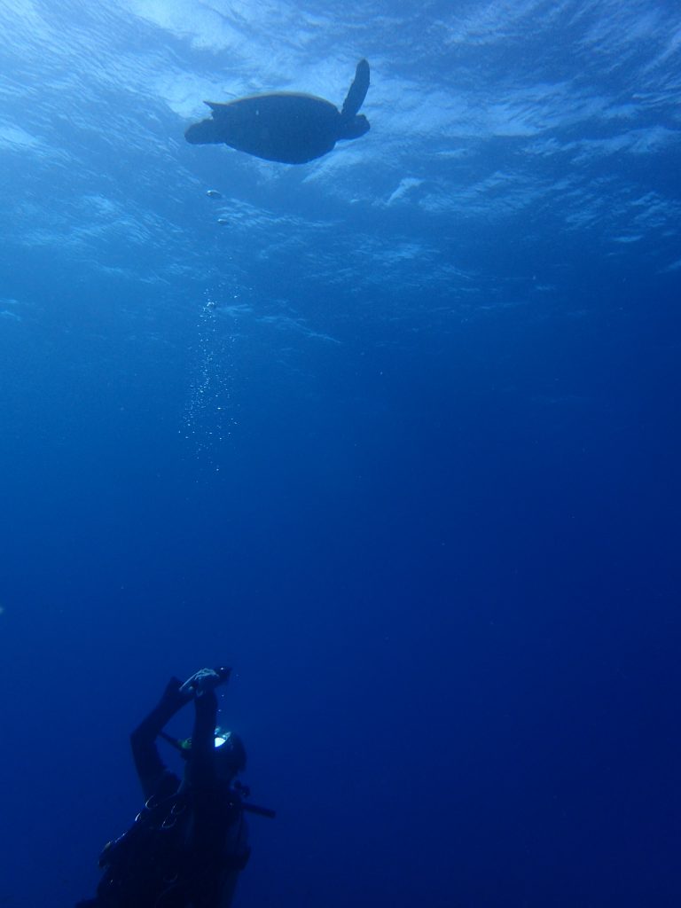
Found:
M 216 726 L 215 688 L 230 672 L 202 668 L 184 684 L 171 678 L 158 705 L 133 731 L 145 803 L 131 828 L 105 845 L 95 898 L 76 908 L 229 908 L 251 853 L 244 811 L 274 816 L 244 803 L 248 789 L 235 779 L 246 752 L 237 735 Z M 163 727 L 192 700 L 192 737 L 166 735 Z M 182 780 L 163 765 L 159 736 L 186 759 Z

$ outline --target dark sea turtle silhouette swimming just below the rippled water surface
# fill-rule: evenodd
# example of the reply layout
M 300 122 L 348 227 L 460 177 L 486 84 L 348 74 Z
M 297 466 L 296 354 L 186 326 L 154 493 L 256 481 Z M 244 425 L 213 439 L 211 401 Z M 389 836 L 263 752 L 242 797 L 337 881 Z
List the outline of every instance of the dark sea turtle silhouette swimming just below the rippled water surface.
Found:
M 360 60 L 341 112 L 313 94 L 252 94 L 229 104 L 206 101 L 211 118 L 184 133 L 193 145 L 224 143 L 266 161 L 304 164 L 331 152 L 339 139 L 358 139 L 369 120 L 358 116 L 369 89 L 369 64 Z

